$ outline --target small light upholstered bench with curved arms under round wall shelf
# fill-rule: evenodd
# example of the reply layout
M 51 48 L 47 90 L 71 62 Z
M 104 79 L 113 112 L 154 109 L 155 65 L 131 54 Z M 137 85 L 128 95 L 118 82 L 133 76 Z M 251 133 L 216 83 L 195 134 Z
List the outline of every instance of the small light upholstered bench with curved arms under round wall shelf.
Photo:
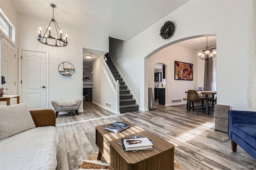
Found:
M 52 100 L 51 103 L 56 111 L 56 117 L 58 116 L 58 113 L 61 111 L 75 111 L 78 115 L 78 108 L 80 107 L 82 100 L 76 99 L 72 102 L 58 102 L 56 100 Z

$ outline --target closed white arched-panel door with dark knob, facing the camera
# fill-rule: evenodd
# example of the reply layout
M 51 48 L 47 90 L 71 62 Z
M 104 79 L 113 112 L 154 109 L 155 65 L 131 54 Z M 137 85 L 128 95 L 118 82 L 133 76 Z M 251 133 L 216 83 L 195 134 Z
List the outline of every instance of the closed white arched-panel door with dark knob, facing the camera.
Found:
M 48 108 L 47 61 L 48 53 L 21 50 L 22 102 L 28 109 Z

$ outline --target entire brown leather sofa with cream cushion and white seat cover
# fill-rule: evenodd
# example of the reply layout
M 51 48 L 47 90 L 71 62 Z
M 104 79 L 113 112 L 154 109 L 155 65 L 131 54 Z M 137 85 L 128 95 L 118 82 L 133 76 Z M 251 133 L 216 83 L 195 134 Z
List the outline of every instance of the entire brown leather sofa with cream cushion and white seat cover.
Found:
M 0 170 L 56 170 L 58 130 L 52 109 L 0 106 Z

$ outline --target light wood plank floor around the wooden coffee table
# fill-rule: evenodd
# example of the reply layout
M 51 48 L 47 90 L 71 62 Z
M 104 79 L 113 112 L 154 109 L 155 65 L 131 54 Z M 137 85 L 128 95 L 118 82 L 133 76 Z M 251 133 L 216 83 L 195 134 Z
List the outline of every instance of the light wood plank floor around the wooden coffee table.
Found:
M 230 140 L 220 142 L 206 137 L 214 130 L 214 111 L 204 115 L 199 109 L 197 115 L 196 110 L 186 113 L 186 105 L 155 105 L 153 111 L 115 115 L 90 101 L 84 101 L 83 109 L 79 115 L 59 115 L 56 119 L 56 170 L 76 170 L 85 158 L 98 151 L 95 126 L 125 120 L 174 144 L 174 160 L 183 170 L 230 170 L 234 169 L 232 165 L 252 165 L 256 170 L 256 160 L 239 146 L 237 152 L 232 152 Z

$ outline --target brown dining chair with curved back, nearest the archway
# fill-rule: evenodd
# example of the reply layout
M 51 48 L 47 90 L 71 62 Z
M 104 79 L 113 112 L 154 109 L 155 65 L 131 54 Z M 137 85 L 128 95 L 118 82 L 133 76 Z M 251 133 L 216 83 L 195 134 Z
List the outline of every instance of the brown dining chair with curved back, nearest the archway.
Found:
M 188 99 L 188 109 L 187 109 L 187 113 L 190 110 L 190 105 L 191 103 L 196 102 L 196 108 L 197 108 L 197 115 L 198 115 L 198 103 L 202 103 L 202 109 L 204 112 L 204 100 L 205 97 L 198 97 L 198 93 L 195 90 L 189 90 L 188 91 L 188 95 L 187 95 L 187 99 Z M 194 111 L 194 107 L 193 107 L 193 111 Z

